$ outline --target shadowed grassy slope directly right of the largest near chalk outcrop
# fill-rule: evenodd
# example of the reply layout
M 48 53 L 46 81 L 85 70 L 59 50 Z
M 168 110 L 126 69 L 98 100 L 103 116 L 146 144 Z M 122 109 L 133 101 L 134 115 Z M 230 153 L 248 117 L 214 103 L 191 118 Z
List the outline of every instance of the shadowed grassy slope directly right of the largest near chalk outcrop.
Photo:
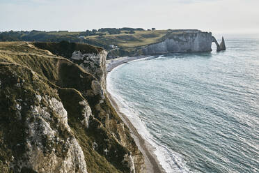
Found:
M 116 165 L 116 163 L 120 163 L 120 160 L 123 159 L 121 157 L 124 156 L 125 149 L 109 136 L 107 130 L 102 127 L 102 123 L 92 117 L 90 128 L 86 129 L 81 124 L 80 121 L 84 118 L 81 116 L 81 110 L 84 107 L 82 105 L 71 104 L 85 100 L 81 96 L 81 93 L 74 89 L 58 89 L 58 93 L 65 110 L 68 111 L 68 124 L 84 151 L 88 172 L 119 173 L 121 172 L 120 170 L 127 170 L 125 167 L 121 167 L 121 164 Z M 104 139 L 109 139 L 109 142 L 106 142 Z M 97 142 L 98 144 L 97 152 L 93 150 L 93 142 Z M 120 158 L 117 158 L 118 160 L 114 159 L 116 157 L 109 157 L 104 154 L 104 149 L 109 148 L 109 146 L 116 147 L 118 151 L 122 152 Z

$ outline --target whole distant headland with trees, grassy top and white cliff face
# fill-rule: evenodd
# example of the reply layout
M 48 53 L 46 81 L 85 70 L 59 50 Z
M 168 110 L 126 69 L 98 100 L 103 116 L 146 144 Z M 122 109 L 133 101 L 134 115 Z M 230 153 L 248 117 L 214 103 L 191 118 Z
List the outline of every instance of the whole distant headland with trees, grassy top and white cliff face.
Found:
M 198 29 L 98 29 L 83 32 L 9 31 L 0 33 L 1 41 L 62 41 L 88 43 L 107 50 L 107 59 L 134 57 L 142 54 L 165 54 L 171 52 L 210 52 L 214 39 L 210 32 Z M 215 42 L 217 44 L 217 42 Z M 219 44 L 218 44 L 219 45 Z M 219 45 L 220 46 L 220 45 Z M 217 50 L 226 50 L 222 43 Z M 225 46 L 225 47 L 224 47 Z

